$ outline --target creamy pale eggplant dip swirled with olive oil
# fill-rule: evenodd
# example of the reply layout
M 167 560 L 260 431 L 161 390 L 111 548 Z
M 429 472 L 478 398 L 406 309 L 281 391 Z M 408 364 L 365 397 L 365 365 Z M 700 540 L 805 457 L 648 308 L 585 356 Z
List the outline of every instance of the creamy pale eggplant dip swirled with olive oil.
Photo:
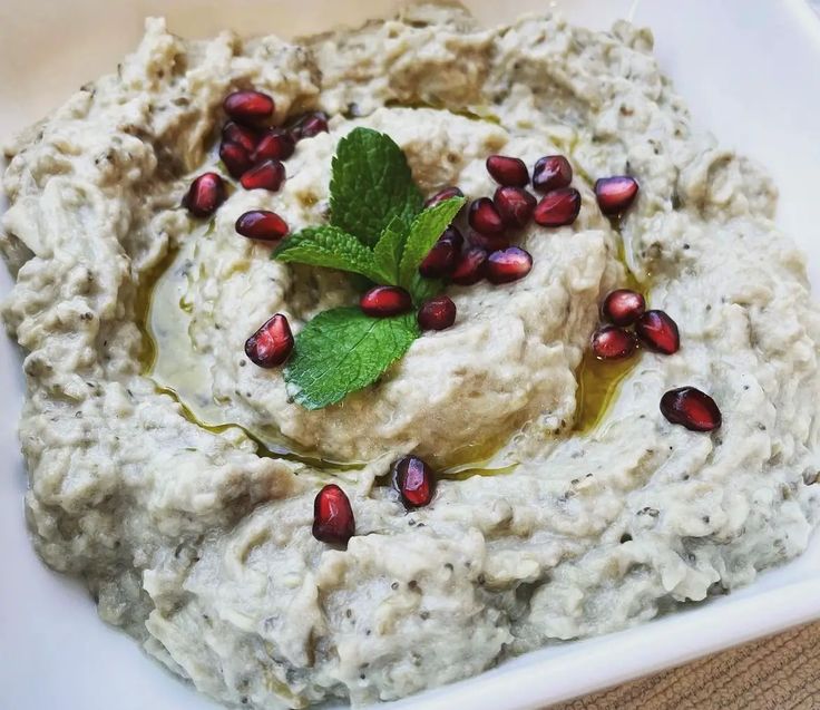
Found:
M 222 100 L 248 86 L 277 121 L 319 108 L 330 132 L 297 144 L 280 192 L 236 189 L 193 218 L 180 200 L 219 172 Z M 583 206 L 572 226 L 523 234 L 525 280 L 448 289 L 455 327 L 309 411 L 242 346 L 274 312 L 299 331 L 358 291 L 272 261 L 234 222 L 266 208 L 322 223 L 331 157 L 357 126 L 390 135 L 424 194 L 492 194 L 491 153 L 564 154 Z M 149 20 L 116 75 L 10 158 L 2 314 L 26 352 L 37 549 L 228 706 L 401 698 L 748 584 L 807 545 L 820 319 L 803 257 L 772 222 L 768 176 L 692 130 L 646 30 L 548 16 L 482 29 L 420 6 L 290 43 L 185 41 Z M 622 173 L 641 194 L 615 224 L 592 185 Z M 598 303 L 627 279 L 682 348 L 621 368 L 582 428 Z M 661 416 L 681 386 L 712 395 L 720 430 Z M 412 512 L 382 485 L 408 453 L 441 473 Z M 355 512 L 346 549 L 311 535 L 331 478 Z

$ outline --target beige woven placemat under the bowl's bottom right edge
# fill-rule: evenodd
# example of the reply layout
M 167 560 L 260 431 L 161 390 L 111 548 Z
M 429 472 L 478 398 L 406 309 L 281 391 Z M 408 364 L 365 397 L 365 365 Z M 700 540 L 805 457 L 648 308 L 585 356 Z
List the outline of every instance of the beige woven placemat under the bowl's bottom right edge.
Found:
M 549 710 L 819 710 L 820 622 Z

